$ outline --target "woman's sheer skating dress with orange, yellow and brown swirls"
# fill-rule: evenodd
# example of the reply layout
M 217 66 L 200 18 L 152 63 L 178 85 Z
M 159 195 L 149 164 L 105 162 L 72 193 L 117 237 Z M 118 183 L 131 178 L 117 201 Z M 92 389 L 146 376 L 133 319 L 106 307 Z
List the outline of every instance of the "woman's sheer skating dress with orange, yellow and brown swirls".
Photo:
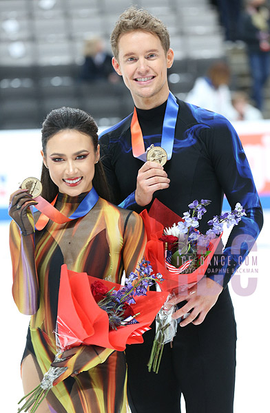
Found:
M 69 216 L 84 197 L 85 193 L 77 197 L 59 193 L 55 207 Z M 17 224 L 11 222 L 13 297 L 21 313 L 32 315 L 23 359 L 34 356 L 39 379 L 56 354 L 53 330 L 61 265 L 119 283 L 123 269 L 129 274 L 143 257 L 145 241 L 141 217 L 102 198 L 82 218 L 65 224 L 50 220 L 34 235 L 21 236 Z M 48 412 L 127 412 L 123 352 L 102 349 L 83 364 L 85 371 L 50 390 Z

